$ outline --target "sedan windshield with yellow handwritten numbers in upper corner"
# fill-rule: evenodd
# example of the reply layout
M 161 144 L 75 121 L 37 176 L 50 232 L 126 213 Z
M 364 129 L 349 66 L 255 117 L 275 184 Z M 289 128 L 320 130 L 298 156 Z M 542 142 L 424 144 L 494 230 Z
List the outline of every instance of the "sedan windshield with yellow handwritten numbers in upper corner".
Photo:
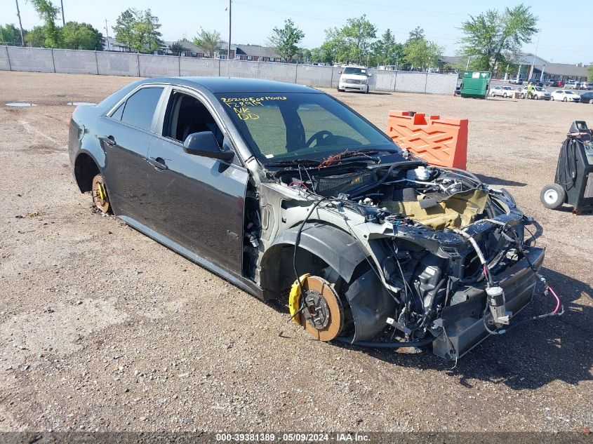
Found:
M 323 160 L 362 149 L 399 152 L 370 123 L 326 94 L 217 94 L 262 163 Z

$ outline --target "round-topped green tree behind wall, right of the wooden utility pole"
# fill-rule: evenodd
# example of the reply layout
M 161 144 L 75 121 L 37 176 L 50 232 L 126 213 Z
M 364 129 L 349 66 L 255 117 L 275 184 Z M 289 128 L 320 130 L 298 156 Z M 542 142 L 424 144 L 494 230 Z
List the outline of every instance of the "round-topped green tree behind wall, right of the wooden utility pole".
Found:
M 119 15 L 113 30 L 117 41 L 135 51 L 156 51 L 163 43 L 160 27 L 159 18 L 150 9 L 128 8 Z

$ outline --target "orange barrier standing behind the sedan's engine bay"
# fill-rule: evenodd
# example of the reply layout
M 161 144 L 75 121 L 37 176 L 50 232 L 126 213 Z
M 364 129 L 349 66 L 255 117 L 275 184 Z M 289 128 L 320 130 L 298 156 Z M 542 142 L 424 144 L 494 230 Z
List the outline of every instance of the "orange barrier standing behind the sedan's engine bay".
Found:
M 401 148 L 431 165 L 465 170 L 467 119 L 441 119 L 408 111 L 389 111 L 387 134 Z

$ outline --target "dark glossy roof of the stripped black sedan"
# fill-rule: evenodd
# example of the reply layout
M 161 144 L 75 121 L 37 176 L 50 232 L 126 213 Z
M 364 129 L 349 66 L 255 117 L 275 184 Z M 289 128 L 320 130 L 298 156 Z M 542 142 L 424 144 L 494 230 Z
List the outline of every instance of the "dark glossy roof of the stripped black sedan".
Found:
M 199 87 L 211 93 L 317 93 L 321 91 L 309 86 L 296 85 L 262 79 L 243 79 L 239 77 L 161 77 L 146 79 L 142 83 L 173 83 L 189 87 Z

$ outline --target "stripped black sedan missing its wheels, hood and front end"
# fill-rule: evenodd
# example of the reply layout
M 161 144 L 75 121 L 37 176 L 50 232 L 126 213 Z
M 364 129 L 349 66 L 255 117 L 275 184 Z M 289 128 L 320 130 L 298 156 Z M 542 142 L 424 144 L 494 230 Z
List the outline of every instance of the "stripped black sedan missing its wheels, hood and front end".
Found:
M 99 210 L 285 300 L 322 341 L 455 360 L 512 328 L 540 278 L 533 221 L 504 189 L 414 159 L 305 86 L 137 81 L 76 109 L 69 156 Z

